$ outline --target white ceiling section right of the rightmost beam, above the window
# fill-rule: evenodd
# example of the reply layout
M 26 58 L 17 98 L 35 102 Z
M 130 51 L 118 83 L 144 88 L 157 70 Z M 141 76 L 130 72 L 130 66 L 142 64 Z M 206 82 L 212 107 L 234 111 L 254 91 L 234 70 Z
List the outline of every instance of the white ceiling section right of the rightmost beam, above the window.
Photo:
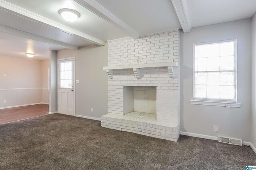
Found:
M 256 0 L 186 0 L 192 27 L 251 18 Z

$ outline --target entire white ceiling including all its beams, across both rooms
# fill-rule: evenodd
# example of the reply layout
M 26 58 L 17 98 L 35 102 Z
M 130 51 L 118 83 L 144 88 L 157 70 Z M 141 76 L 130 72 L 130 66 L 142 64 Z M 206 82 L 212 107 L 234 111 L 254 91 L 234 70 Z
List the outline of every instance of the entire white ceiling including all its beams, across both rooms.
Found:
M 58 14 L 61 8 L 74 9 L 81 16 L 70 23 Z M 189 31 L 191 27 L 250 18 L 254 12 L 256 0 L 0 0 L 0 55 L 26 57 L 30 46 L 36 53 L 34 59 L 44 60 L 49 49 L 104 45 L 106 40 L 136 34 L 185 30 L 184 25 Z M 9 35 L 1 32 L 1 25 L 28 33 L 31 39 L 41 38 Z

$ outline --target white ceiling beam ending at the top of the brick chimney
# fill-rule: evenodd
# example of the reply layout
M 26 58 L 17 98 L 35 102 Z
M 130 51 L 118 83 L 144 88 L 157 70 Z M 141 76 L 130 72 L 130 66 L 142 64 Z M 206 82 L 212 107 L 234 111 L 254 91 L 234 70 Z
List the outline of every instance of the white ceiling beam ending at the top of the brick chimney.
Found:
M 74 0 L 78 4 L 82 5 L 84 8 L 90 10 L 100 18 L 106 20 L 107 22 L 111 23 L 112 25 L 118 27 L 119 29 L 128 33 L 128 35 L 134 39 L 140 37 L 140 34 L 132 29 L 129 25 L 127 25 L 124 21 L 120 20 L 110 11 L 108 11 L 104 6 L 96 2 L 96 0 Z

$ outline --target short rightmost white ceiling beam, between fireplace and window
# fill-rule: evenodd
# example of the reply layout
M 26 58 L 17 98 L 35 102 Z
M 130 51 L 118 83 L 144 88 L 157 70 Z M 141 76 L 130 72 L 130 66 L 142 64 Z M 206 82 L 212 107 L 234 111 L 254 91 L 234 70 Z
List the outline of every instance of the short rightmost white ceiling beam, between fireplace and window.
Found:
M 191 25 L 188 17 L 188 6 L 186 0 L 172 0 L 172 4 L 180 21 L 183 32 L 190 32 Z

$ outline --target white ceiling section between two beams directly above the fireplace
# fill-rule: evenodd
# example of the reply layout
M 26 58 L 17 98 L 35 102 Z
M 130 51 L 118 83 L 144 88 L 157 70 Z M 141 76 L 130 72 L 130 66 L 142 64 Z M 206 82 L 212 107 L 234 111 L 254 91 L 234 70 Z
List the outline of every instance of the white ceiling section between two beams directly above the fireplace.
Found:
M 171 0 L 96 1 L 142 36 L 180 28 Z

